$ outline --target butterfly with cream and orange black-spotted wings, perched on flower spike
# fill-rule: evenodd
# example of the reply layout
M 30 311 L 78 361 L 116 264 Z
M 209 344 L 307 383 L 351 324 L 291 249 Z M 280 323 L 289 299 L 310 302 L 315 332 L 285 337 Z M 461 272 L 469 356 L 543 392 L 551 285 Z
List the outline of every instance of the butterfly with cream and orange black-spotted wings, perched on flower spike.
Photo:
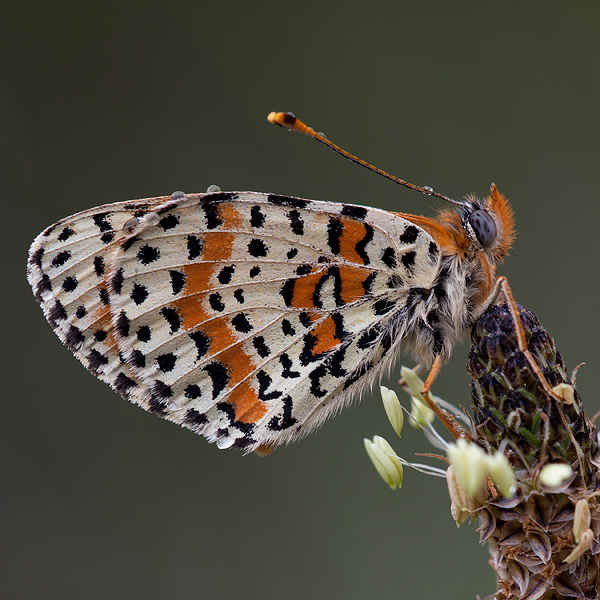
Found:
M 401 347 L 445 362 L 492 294 L 514 238 L 506 198 L 399 181 L 455 207 L 176 192 L 58 221 L 33 242 L 28 279 L 61 341 L 121 396 L 266 454 L 360 396 Z

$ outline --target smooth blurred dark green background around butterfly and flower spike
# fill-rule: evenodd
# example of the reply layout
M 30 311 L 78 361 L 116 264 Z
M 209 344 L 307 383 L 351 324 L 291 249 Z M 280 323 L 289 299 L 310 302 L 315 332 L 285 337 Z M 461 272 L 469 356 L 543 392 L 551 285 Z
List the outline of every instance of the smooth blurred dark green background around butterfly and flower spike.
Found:
M 25 279 L 47 225 L 92 206 L 255 190 L 431 215 L 436 202 L 269 125 L 292 110 L 351 152 L 454 197 L 511 199 L 501 272 L 579 362 L 598 334 L 597 2 L 42 2 L 0 18 L 0 597 L 474 598 L 494 588 L 445 482 L 405 458 L 378 395 L 265 459 L 123 401 L 64 348 Z M 434 391 L 469 403 L 468 345 Z M 410 361 L 408 361 L 410 362 Z M 389 382 L 388 382 L 389 383 Z

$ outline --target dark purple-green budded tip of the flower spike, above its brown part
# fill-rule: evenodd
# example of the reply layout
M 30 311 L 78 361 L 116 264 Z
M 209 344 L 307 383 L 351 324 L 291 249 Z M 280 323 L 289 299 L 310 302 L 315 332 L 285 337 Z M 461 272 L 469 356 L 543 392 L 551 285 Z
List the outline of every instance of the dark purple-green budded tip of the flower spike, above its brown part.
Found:
M 568 380 L 552 338 L 533 313 L 523 307 L 519 310 L 528 350 L 550 387 L 567 384 L 573 390 L 573 401 L 570 404 L 550 401 L 519 351 L 508 306 L 494 306 L 473 326 L 471 333 L 473 346 L 468 370 L 473 378 L 477 431 L 493 448 L 502 442 L 518 447 L 522 456 L 527 457 L 528 464 L 524 467 L 541 468 L 549 462 L 574 464 L 582 453 L 587 460 L 574 470 L 589 485 L 592 480 L 597 481 L 597 468 L 591 462 L 598 452 L 596 428 Z M 510 458 L 510 449 L 507 452 Z

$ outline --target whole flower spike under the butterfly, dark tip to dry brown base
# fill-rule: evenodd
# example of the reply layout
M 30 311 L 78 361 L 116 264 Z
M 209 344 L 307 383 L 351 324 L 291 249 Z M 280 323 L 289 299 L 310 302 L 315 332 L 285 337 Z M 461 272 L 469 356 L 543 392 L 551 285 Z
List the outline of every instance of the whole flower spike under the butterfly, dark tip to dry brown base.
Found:
M 500 451 L 508 458 L 516 485 L 512 498 L 484 498 L 476 513 L 498 577 L 489 598 L 598 600 L 596 428 L 554 342 L 532 313 L 518 309 L 527 349 L 560 399 L 546 394 L 519 350 L 508 306 L 492 307 L 471 334 L 471 434 L 488 454 Z M 557 469 L 563 474 L 550 477 Z

